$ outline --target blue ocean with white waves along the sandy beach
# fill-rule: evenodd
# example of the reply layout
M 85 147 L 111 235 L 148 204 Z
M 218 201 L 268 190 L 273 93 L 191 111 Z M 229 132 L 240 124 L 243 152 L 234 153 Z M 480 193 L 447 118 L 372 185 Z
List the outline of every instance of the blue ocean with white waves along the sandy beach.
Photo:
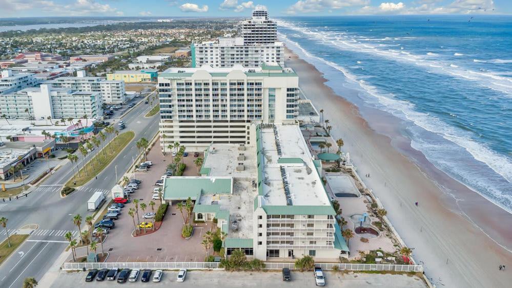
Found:
M 277 21 L 336 93 L 399 118 L 429 162 L 512 212 L 512 16 Z

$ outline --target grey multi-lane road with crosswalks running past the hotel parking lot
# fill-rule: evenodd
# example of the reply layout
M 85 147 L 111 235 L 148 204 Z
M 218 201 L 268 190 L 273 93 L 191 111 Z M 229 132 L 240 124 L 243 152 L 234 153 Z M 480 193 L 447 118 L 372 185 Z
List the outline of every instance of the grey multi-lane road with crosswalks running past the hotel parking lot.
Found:
M 87 215 L 92 214 L 87 211 L 87 200 L 96 191 L 110 191 L 116 183 L 115 166 L 118 178 L 121 178 L 131 166 L 132 157 L 138 154 L 135 142 L 142 137 L 150 140 L 158 131 L 159 117 L 144 117 L 150 108 L 150 105 L 144 104 L 143 101 L 122 119 L 127 127 L 124 131 L 133 130 L 135 138 L 103 172 L 97 175 L 97 180 L 79 187 L 65 198 L 60 197 L 60 189 L 72 177 L 70 163 L 67 161 L 28 197 L 0 202 L 0 215 L 9 219 L 8 229 L 15 231 L 27 224 L 39 225 L 39 229 L 32 233 L 28 241 L 0 266 L 0 287 L 21 287 L 27 277 L 35 277 L 37 280 L 43 277 L 67 247 L 63 236 L 65 232 L 77 231 L 72 215 L 80 214 L 85 219 Z M 117 123 L 118 119 L 115 122 Z M 82 228 L 85 225 L 83 221 Z M 0 241 L 5 237 L 5 232 L 1 232 Z

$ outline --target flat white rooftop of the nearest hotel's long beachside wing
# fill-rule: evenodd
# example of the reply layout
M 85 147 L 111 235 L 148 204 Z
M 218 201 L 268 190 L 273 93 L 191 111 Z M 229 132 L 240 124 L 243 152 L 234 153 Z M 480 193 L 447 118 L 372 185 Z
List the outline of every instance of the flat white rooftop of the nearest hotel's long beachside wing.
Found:
M 263 205 L 287 205 L 285 186 L 292 205 L 331 205 L 299 126 L 274 127 L 275 130 L 272 126 L 260 129 L 264 156 Z

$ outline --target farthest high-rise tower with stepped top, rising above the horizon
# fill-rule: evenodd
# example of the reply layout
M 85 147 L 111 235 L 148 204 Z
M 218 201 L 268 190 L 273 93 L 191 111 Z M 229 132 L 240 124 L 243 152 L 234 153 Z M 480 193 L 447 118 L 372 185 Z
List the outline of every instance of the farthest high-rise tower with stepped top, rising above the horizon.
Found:
M 242 21 L 244 45 L 274 43 L 277 41 L 277 24 L 269 20 L 266 10 L 255 10 L 251 19 Z

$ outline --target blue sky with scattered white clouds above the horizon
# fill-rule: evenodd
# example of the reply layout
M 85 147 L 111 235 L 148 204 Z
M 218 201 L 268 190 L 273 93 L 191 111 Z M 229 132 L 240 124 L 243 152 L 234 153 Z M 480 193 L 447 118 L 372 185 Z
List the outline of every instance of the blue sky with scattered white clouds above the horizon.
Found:
M 0 17 L 512 14 L 511 0 L 0 0 Z

